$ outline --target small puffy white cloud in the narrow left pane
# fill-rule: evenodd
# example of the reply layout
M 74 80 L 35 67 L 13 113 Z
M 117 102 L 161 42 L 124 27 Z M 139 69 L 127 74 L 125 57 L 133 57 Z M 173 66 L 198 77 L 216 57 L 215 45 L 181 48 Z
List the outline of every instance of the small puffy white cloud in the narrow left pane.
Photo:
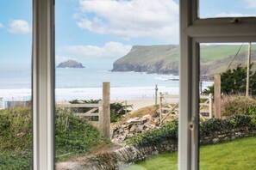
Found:
M 27 21 L 13 20 L 9 23 L 9 33 L 26 34 L 31 32 L 31 27 Z

